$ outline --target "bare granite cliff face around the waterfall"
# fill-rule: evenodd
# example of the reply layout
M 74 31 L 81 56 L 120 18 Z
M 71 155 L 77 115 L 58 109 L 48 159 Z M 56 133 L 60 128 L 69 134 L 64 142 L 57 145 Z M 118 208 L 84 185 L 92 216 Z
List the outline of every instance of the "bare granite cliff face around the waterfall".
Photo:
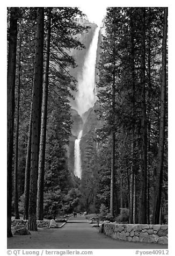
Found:
M 82 74 L 83 63 L 86 58 L 86 54 L 89 50 L 90 44 L 92 42 L 94 31 L 97 28 L 96 24 L 94 24 L 94 23 L 91 24 L 87 20 L 79 19 L 78 22 L 81 22 L 81 24 L 84 24 L 84 25 L 88 25 L 91 28 L 89 29 L 88 33 L 79 34 L 76 36 L 77 39 L 79 39 L 81 42 L 83 42 L 83 44 L 85 45 L 85 49 L 82 49 L 79 51 L 74 50 L 71 52 L 71 55 L 74 56 L 76 63 L 78 65 L 75 69 L 70 70 L 70 74 L 72 76 L 74 76 L 75 79 L 77 79 L 78 76 Z M 102 38 L 101 33 L 102 33 L 102 31 L 99 30 L 97 58 L 96 58 L 96 70 L 95 70 L 96 83 L 98 82 L 98 61 L 100 59 L 100 51 L 101 51 L 100 50 L 100 41 Z M 74 92 L 73 94 L 74 94 L 74 97 L 76 98 L 77 93 Z M 74 164 L 75 164 L 74 146 L 75 146 L 75 140 L 78 137 L 78 133 L 79 133 L 79 131 L 83 130 L 82 139 L 80 142 L 81 160 L 83 163 L 84 148 L 86 146 L 86 140 L 87 140 L 88 136 L 90 135 L 92 129 L 94 129 L 94 127 L 96 127 L 98 125 L 98 122 L 97 122 L 96 113 L 94 112 L 94 107 L 90 108 L 88 111 L 83 113 L 83 115 L 81 117 L 78 114 L 78 112 L 75 110 L 76 109 L 76 101 L 71 99 L 70 104 L 71 104 L 71 108 L 72 108 L 71 116 L 72 116 L 73 124 L 72 124 L 72 136 L 70 137 L 70 143 L 69 143 L 69 148 L 68 148 L 68 158 L 69 158 L 69 170 L 72 173 L 72 175 L 74 176 Z M 82 172 L 84 172 L 84 170 L 82 170 Z M 77 179 L 74 177 L 74 180 L 77 180 Z

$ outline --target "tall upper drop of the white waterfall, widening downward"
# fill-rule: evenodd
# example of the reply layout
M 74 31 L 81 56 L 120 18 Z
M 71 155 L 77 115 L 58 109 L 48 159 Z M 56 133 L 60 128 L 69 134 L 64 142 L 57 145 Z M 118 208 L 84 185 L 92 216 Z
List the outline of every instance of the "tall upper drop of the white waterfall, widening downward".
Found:
M 77 112 L 80 116 L 88 111 L 96 101 L 96 58 L 98 47 L 99 27 L 94 31 L 89 51 L 85 56 L 82 74 L 78 75 L 78 93 L 76 96 Z

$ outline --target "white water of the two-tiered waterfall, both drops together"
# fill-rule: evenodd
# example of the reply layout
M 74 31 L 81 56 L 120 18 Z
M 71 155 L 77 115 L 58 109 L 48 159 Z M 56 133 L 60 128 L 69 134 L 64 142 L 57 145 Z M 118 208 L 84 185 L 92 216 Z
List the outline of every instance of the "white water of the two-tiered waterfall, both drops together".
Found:
M 76 96 L 77 112 L 82 117 L 83 113 L 88 111 L 94 105 L 96 101 L 96 82 L 95 82 L 95 71 L 96 71 L 96 58 L 97 58 L 97 47 L 98 47 L 98 34 L 99 27 L 94 31 L 92 42 L 89 47 L 89 51 L 85 56 L 83 64 L 82 75 L 78 76 L 78 93 Z M 82 138 L 82 130 L 78 134 L 78 138 L 75 140 L 75 168 L 74 174 L 81 179 L 82 168 L 81 168 L 81 150 L 79 143 Z

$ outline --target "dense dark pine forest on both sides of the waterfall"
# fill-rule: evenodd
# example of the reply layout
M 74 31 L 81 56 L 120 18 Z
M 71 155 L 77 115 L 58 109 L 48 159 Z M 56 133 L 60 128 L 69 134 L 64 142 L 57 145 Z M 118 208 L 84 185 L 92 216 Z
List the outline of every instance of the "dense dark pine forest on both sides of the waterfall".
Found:
M 78 8 L 8 8 L 8 237 L 11 217 L 72 211 L 110 221 L 167 223 L 167 8 L 107 8 L 97 101 L 70 169 L 72 51 L 91 24 Z M 89 129 L 89 130 L 88 130 Z

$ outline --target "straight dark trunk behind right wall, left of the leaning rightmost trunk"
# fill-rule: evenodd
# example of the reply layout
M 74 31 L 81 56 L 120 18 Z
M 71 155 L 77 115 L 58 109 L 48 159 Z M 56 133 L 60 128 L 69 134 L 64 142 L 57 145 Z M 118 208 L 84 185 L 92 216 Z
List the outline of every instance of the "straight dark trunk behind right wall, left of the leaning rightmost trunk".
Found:
M 147 223 L 147 113 L 145 103 L 145 8 L 141 8 L 141 108 L 142 108 L 142 149 L 141 149 L 141 194 L 138 222 Z

